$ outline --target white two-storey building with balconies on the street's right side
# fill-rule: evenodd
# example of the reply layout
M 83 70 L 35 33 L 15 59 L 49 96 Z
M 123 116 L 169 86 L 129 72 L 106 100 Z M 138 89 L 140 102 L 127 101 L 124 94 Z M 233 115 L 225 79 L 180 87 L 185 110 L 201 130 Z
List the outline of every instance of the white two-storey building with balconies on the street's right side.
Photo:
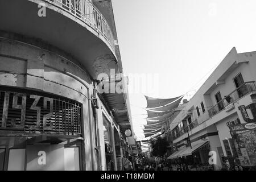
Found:
M 175 147 L 168 159 L 193 170 L 256 165 L 255 68 L 256 52 L 226 55 L 170 123 Z

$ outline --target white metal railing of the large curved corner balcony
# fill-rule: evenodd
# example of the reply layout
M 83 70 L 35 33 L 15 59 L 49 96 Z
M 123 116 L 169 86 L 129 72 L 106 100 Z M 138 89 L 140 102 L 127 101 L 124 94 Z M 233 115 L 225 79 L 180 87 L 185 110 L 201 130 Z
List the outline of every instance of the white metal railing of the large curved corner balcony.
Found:
M 114 48 L 114 36 L 108 22 L 100 11 L 89 0 L 43 0 L 68 11 L 82 22 L 92 27 L 98 34 L 104 36 L 107 42 Z

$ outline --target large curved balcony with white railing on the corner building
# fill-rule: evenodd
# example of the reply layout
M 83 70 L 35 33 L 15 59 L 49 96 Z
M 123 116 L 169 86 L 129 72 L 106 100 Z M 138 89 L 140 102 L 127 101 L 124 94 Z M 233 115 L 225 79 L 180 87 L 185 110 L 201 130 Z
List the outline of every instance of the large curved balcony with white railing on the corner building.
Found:
M 39 16 L 42 3 L 46 16 Z M 92 78 L 118 69 L 112 30 L 88 0 L 0 0 L 0 24 L 0 37 L 53 52 L 60 49 Z

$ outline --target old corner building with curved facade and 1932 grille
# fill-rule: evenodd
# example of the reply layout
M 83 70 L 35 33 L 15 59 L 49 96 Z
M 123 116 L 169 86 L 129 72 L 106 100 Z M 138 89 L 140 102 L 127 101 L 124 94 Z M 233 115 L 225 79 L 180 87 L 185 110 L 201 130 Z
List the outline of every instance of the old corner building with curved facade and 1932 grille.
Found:
M 111 70 L 122 73 L 110 0 L 1 0 L 0 170 L 133 162 L 129 95 L 96 81 Z

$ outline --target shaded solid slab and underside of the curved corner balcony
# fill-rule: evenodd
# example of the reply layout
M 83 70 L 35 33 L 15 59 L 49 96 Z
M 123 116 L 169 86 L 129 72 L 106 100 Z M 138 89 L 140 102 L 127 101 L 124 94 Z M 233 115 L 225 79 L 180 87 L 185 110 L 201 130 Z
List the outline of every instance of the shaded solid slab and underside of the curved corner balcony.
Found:
M 38 10 L 38 4 L 28 0 L 0 0 L 0 36 L 44 49 L 57 47 L 78 60 L 93 78 L 99 73 L 109 75 L 111 68 L 117 70 L 113 49 L 88 24 L 49 3 L 46 17 L 39 17 Z

